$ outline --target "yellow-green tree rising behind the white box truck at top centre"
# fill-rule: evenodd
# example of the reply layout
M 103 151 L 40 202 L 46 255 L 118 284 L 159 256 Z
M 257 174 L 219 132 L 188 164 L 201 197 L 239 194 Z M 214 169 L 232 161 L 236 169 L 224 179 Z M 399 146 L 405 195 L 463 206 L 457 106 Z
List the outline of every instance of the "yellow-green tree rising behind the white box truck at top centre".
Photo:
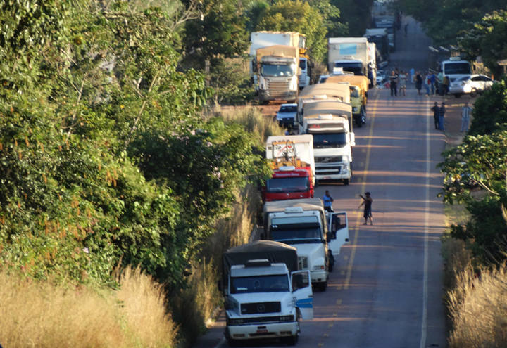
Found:
M 262 15 L 256 30 L 299 32 L 306 35 L 306 45 L 316 61 L 323 61 L 327 42 L 323 16 L 318 9 L 301 0 L 282 0 L 270 6 Z

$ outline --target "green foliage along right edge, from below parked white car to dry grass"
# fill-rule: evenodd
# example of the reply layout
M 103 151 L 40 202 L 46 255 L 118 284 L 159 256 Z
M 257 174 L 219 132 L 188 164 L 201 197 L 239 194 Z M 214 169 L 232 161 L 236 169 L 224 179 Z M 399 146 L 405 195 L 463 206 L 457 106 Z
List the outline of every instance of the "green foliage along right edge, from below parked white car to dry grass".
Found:
M 470 213 L 451 236 L 468 241 L 480 262 L 499 263 L 507 246 L 507 78 L 475 102 L 463 143 L 444 152 L 444 201 Z

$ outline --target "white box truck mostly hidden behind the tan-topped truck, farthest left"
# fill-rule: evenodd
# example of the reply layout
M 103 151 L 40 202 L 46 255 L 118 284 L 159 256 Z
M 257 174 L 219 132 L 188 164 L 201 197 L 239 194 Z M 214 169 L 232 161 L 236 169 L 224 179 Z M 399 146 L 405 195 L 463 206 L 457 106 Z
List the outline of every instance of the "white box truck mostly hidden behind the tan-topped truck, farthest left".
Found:
M 251 81 L 256 86 L 256 91 L 259 89 L 258 84 L 258 49 L 263 49 L 270 46 L 291 46 L 299 49 L 299 55 L 296 59 L 299 69 L 297 70 L 297 85 L 299 89 L 308 86 L 311 82 L 311 63 L 306 51 L 306 37 L 299 32 L 252 32 L 250 39 L 250 75 Z

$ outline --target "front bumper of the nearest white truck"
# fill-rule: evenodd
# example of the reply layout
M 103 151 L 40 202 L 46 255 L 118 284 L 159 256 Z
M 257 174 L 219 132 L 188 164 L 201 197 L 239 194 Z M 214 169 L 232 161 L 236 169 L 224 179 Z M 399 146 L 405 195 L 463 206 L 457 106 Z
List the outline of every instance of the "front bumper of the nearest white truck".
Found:
M 225 337 L 233 340 L 253 340 L 256 338 L 289 337 L 296 335 L 296 321 L 287 323 L 258 323 L 249 325 L 230 325 L 225 328 Z

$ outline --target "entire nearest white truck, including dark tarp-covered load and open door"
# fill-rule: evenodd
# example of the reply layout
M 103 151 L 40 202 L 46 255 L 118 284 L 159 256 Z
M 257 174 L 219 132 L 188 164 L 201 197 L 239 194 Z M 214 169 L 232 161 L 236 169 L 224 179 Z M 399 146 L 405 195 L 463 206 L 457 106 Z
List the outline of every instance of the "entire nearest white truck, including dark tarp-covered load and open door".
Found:
M 222 282 L 230 345 L 262 338 L 294 345 L 300 320 L 313 318 L 310 272 L 298 271 L 290 245 L 257 240 L 227 250 Z

